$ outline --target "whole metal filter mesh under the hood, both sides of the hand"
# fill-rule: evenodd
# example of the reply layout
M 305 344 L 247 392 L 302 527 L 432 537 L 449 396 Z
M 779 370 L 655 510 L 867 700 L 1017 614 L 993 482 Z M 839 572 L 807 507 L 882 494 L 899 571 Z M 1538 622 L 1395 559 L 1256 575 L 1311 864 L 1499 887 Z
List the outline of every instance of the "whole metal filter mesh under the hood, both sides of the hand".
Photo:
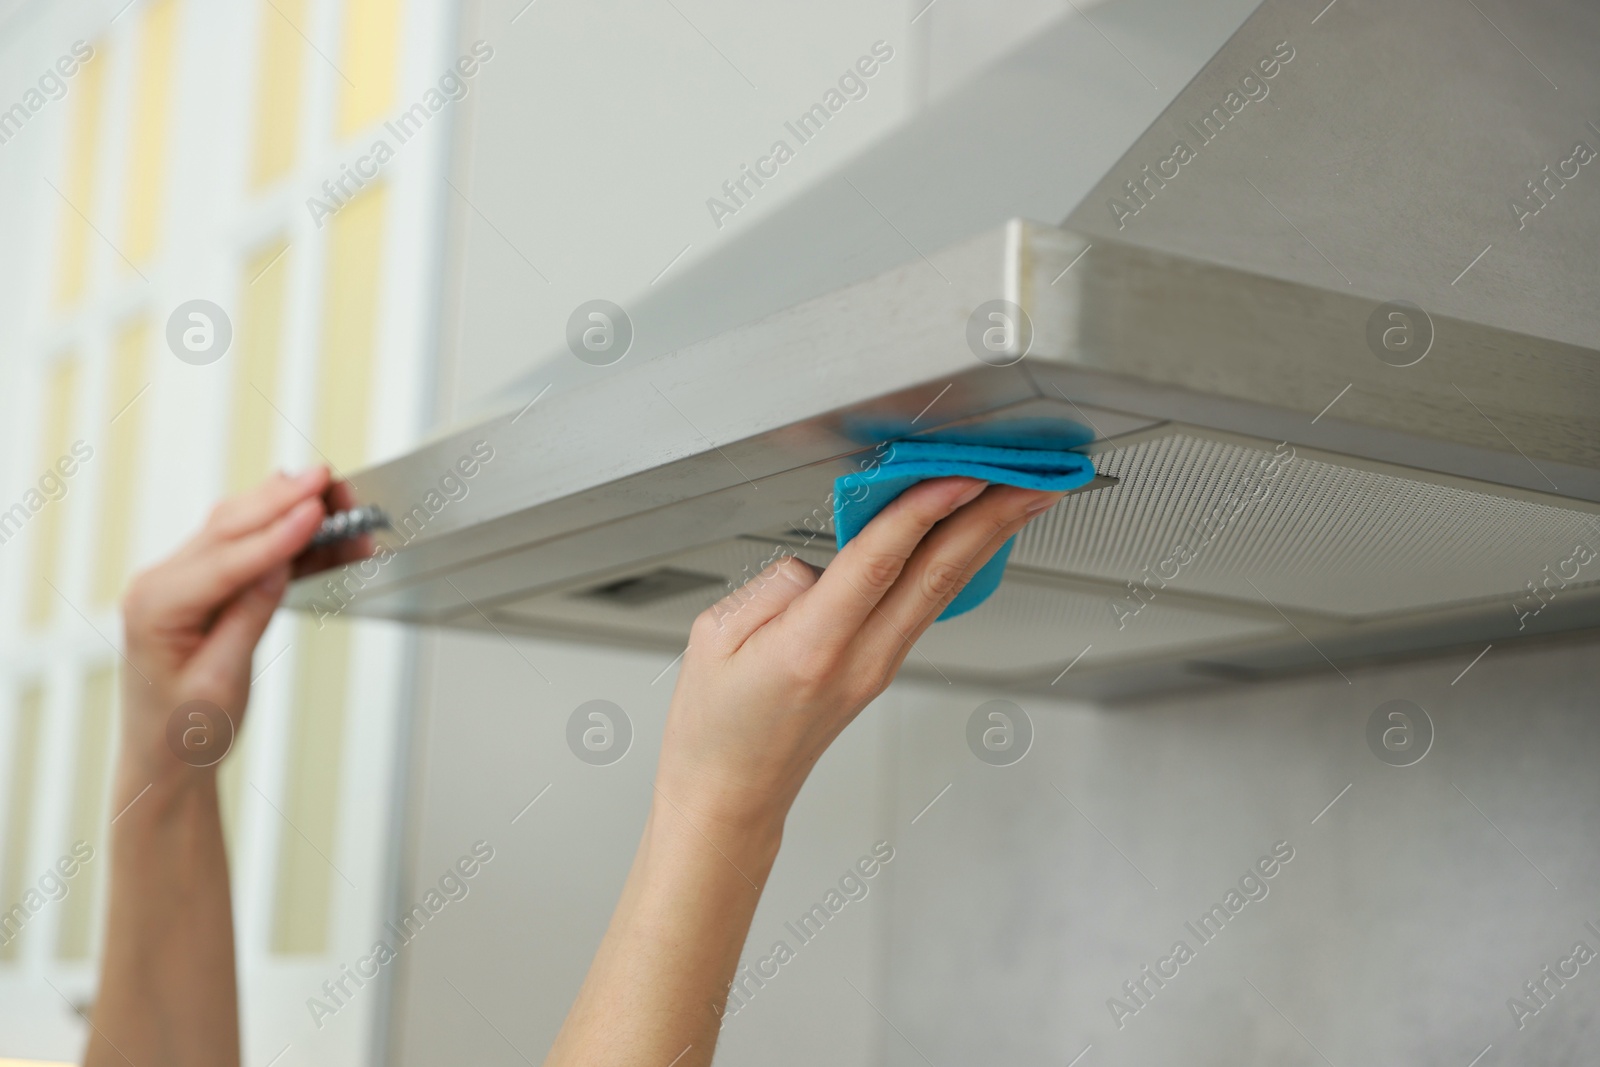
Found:
M 1018 539 L 995 597 L 939 624 L 907 661 L 930 675 L 1032 677 L 1152 656 L 1210 654 L 1389 613 L 1504 598 L 1507 611 L 1576 544 L 1600 549 L 1592 512 L 1472 491 L 1370 467 L 1274 453 L 1192 427 L 1094 456 L 1117 485 L 1066 498 Z M 750 534 L 499 605 L 512 625 L 677 643 L 694 616 L 787 541 Z M 829 537 L 798 555 L 826 566 Z M 1570 563 L 1565 568 L 1571 569 Z M 694 581 L 662 581 L 693 576 Z M 717 581 L 717 579 L 722 581 Z M 1571 585 L 1592 585 L 1600 561 Z M 1142 595 L 1128 590 L 1138 582 Z M 586 595 L 589 593 L 589 595 Z M 1136 609 L 1136 611 L 1134 611 Z M 1283 614 L 1280 614 L 1280 611 Z M 1128 613 L 1133 613 L 1128 617 Z

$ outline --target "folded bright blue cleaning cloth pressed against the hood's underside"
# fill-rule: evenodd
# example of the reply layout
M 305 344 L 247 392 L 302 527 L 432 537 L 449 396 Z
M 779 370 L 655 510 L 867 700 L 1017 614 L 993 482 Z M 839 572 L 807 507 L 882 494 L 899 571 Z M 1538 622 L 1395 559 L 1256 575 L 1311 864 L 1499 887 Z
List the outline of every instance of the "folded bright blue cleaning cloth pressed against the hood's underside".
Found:
M 1008 437 L 1014 445 L 1016 437 Z M 1053 445 L 1058 442 L 1051 442 Z M 834 482 L 834 536 L 843 549 L 861 533 L 874 515 L 890 502 L 928 478 L 947 477 L 981 478 L 994 485 L 1016 485 L 1024 490 L 1075 490 L 1094 477 L 1094 464 L 1088 456 L 1062 448 L 1016 448 L 1002 445 L 971 445 L 939 440 L 894 442 L 883 456 L 866 470 L 853 470 Z M 973 574 L 955 600 L 946 606 L 939 621 L 954 619 L 989 600 L 1011 557 L 1011 537 Z

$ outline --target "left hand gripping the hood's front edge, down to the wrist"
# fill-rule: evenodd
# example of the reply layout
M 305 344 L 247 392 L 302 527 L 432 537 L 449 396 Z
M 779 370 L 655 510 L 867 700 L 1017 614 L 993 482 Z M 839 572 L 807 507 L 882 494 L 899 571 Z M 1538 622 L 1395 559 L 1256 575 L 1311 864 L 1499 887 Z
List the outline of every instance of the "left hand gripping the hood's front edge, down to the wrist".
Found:
M 350 502 L 326 467 L 272 475 L 218 504 L 200 533 L 130 584 L 122 752 L 136 789 L 186 771 L 166 744 L 168 720 L 184 704 L 213 704 L 238 729 L 256 641 L 290 577 L 371 552 L 362 537 L 306 553 L 328 510 Z

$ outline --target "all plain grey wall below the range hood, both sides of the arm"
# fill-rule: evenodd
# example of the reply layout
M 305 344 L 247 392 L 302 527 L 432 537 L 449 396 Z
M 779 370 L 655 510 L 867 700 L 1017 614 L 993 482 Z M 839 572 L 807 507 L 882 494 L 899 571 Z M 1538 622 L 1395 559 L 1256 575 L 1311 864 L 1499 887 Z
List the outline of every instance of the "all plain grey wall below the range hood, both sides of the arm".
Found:
M 1482 1064 L 1579 1062 L 1600 960 L 1520 1032 L 1506 1001 L 1576 941 L 1600 950 L 1584 928 L 1600 926 L 1597 651 L 1496 646 L 1466 675 L 1470 654 L 1139 707 L 1022 697 L 1035 736 L 1013 766 L 966 745 L 971 712 L 1003 694 L 896 685 L 802 795 L 746 953 L 784 939 L 797 958 L 730 1021 L 718 1062 L 1088 1048 L 1085 1067 L 1466 1067 L 1490 1045 Z M 411 881 L 478 837 L 496 859 L 406 949 L 397 1062 L 538 1062 L 621 889 L 675 670 L 653 681 L 667 654 L 494 635 L 435 635 L 427 656 Z M 637 729 L 605 768 L 563 734 L 595 697 Z M 1435 731 L 1405 768 L 1365 739 L 1397 697 Z M 784 921 L 878 840 L 894 859 L 867 897 L 797 945 Z M 1202 944 L 1186 921 L 1277 841 L 1294 856 L 1267 894 Z M 1107 1000 L 1131 1005 L 1122 984 L 1179 939 L 1194 958 L 1118 1029 Z

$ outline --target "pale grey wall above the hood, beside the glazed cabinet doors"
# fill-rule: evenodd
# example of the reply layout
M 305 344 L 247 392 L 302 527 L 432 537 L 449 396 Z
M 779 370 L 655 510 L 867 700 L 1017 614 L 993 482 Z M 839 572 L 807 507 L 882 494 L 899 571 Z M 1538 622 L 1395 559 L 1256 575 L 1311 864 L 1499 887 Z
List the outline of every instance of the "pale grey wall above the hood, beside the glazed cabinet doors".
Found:
M 462 3 L 462 38 L 496 56 L 462 112 L 451 178 L 446 418 L 504 406 L 506 382 L 563 349 L 578 304 L 630 306 L 669 264 L 682 272 L 736 234 L 714 226 L 707 198 L 875 40 L 899 58 L 741 224 L 902 120 L 917 80 L 902 3 L 522 6 Z

